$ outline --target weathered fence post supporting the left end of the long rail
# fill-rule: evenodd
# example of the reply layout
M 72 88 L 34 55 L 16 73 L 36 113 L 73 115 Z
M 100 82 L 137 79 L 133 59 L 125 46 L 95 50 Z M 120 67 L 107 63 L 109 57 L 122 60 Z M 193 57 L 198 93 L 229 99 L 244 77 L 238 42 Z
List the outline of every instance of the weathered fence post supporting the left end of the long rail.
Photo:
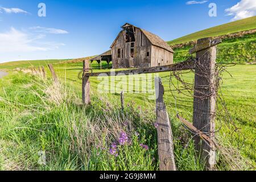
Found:
M 82 61 L 82 103 L 90 104 L 90 81 L 89 76 L 85 76 L 85 72 L 89 71 L 90 62 L 88 60 Z

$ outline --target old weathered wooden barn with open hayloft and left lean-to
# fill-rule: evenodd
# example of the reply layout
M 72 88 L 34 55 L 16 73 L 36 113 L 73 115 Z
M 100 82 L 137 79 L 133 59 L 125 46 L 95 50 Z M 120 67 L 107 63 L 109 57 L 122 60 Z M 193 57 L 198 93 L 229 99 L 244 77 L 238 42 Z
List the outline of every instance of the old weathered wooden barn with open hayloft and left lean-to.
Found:
M 112 61 L 113 68 L 148 68 L 173 63 L 174 51 L 163 39 L 126 23 L 107 51 L 91 59 Z M 108 60 L 106 60 L 108 59 Z

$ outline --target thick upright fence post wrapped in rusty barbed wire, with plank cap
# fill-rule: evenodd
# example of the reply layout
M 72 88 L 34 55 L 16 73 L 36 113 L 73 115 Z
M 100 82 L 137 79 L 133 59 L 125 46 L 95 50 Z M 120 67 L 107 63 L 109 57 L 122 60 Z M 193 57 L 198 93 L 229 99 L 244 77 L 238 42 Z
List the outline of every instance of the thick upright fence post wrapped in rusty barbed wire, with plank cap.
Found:
M 217 44 L 221 39 L 204 38 L 197 40 L 195 47 L 189 53 L 196 52 L 195 88 L 193 104 L 193 126 L 214 139 L 216 117 L 216 53 Z M 196 151 L 212 170 L 216 163 L 216 152 L 212 143 L 195 137 Z

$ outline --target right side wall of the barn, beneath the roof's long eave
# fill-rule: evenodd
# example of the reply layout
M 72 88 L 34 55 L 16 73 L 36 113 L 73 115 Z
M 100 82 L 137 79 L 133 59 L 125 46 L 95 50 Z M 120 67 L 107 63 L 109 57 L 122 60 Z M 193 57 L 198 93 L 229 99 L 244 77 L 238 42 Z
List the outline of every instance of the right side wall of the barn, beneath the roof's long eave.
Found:
M 174 53 L 160 47 L 152 46 L 151 67 L 169 65 L 172 63 L 174 63 Z

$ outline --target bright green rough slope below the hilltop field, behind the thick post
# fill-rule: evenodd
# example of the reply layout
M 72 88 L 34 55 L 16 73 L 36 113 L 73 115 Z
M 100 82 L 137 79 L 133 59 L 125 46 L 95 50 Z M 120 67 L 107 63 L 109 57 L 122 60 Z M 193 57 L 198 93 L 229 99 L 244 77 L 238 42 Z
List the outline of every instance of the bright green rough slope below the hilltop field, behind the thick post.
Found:
M 188 59 L 188 51 L 192 46 L 174 49 L 174 61 Z M 217 46 L 217 63 L 255 63 L 256 62 L 256 33 L 242 38 L 229 38 Z

